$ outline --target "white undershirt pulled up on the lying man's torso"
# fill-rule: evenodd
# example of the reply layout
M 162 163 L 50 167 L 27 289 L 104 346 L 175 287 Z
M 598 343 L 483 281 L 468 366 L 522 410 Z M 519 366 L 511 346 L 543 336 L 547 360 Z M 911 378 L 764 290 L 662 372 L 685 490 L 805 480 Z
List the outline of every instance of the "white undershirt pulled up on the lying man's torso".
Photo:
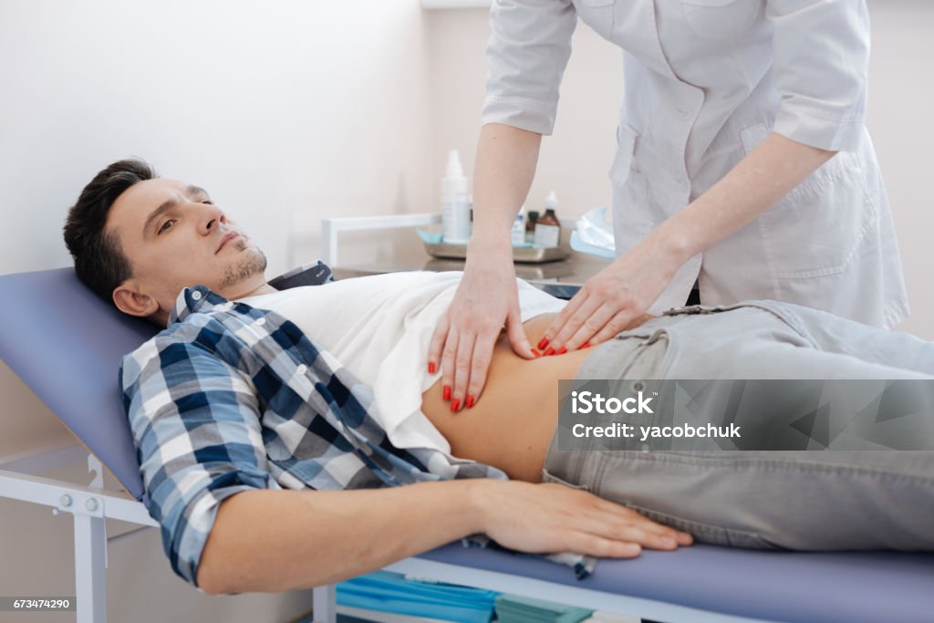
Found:
M 361 276 L 241 299 L 290 319 L 374 392 L 375 418 L 396 447 L 450 454 L 447 440 L 421 412 L 428 348 L 460 284 L 460 272 L 414 271 Z M 567 304 L 517 279 L 522 321 Z M 439 366 L 440 367 L 440 366 Z

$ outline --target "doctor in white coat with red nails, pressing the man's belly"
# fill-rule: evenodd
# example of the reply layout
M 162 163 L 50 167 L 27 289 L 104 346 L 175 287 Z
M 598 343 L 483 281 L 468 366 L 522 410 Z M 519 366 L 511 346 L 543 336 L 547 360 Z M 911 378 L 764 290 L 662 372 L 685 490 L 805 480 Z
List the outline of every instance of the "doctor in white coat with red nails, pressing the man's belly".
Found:
M 519 356 L 535 356 L 509 231 L 578 18 L 623 50 L 618 257 L 531 336 L 538 347 L 596 345 L 645 311 L 685 304 L 695 280 L 702 304 L 777 299 L 886 328 L 907 317 L 864 123 L 865 0 L 494 0 L 474 234 L 429 352 L 452 404 L 479 400 L 503 326 Z

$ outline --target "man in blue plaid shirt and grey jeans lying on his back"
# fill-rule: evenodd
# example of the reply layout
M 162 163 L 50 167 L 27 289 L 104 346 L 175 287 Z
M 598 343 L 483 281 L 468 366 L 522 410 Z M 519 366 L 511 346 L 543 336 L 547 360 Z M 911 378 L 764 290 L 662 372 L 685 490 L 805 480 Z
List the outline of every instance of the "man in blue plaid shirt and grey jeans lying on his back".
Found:
M 321 585 L 476 533 L 616 558 L 689 545 L 688 532 L 934 549 L 932 453 L 552 440 L 561 378 L 931 378 L 934 344 L 911 335 L 791 304 L 688 307 L 532 360 L 501 337 L 482 397 L 464 396 L 425 359 L 460 273 L 276 291 L 206 191 L 139 161 L 94 177 L 64 237 L 85 284 L 168 327 L 124 358 L 120 383 L 149 512 L 175 572 L 205 592 Z M 517 288 L 527 333 L 542 333 L 565 302 Z

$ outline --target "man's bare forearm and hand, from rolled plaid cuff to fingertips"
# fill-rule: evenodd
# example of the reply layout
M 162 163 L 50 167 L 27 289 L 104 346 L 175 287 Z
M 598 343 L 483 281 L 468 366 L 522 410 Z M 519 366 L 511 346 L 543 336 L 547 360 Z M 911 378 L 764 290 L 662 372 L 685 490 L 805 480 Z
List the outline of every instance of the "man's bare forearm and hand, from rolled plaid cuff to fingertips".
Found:
M 308 588 L 485 532 L 531 553 L 638 556 L 684 532 L 586 491 L 490 479 L 351 491 L 253 490 L 220 504 L 198 566 L 209 594 Z

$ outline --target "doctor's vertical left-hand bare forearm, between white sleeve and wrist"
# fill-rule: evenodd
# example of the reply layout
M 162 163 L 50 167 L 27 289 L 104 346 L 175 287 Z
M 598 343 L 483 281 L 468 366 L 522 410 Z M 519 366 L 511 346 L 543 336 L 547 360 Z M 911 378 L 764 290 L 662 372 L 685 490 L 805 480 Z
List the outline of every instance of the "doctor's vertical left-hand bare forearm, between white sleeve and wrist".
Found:
M 474 163 L 473 249 L 505 248 L 509 232 L 535 177 L 542 135 L 502 123 L 480 130 Z

